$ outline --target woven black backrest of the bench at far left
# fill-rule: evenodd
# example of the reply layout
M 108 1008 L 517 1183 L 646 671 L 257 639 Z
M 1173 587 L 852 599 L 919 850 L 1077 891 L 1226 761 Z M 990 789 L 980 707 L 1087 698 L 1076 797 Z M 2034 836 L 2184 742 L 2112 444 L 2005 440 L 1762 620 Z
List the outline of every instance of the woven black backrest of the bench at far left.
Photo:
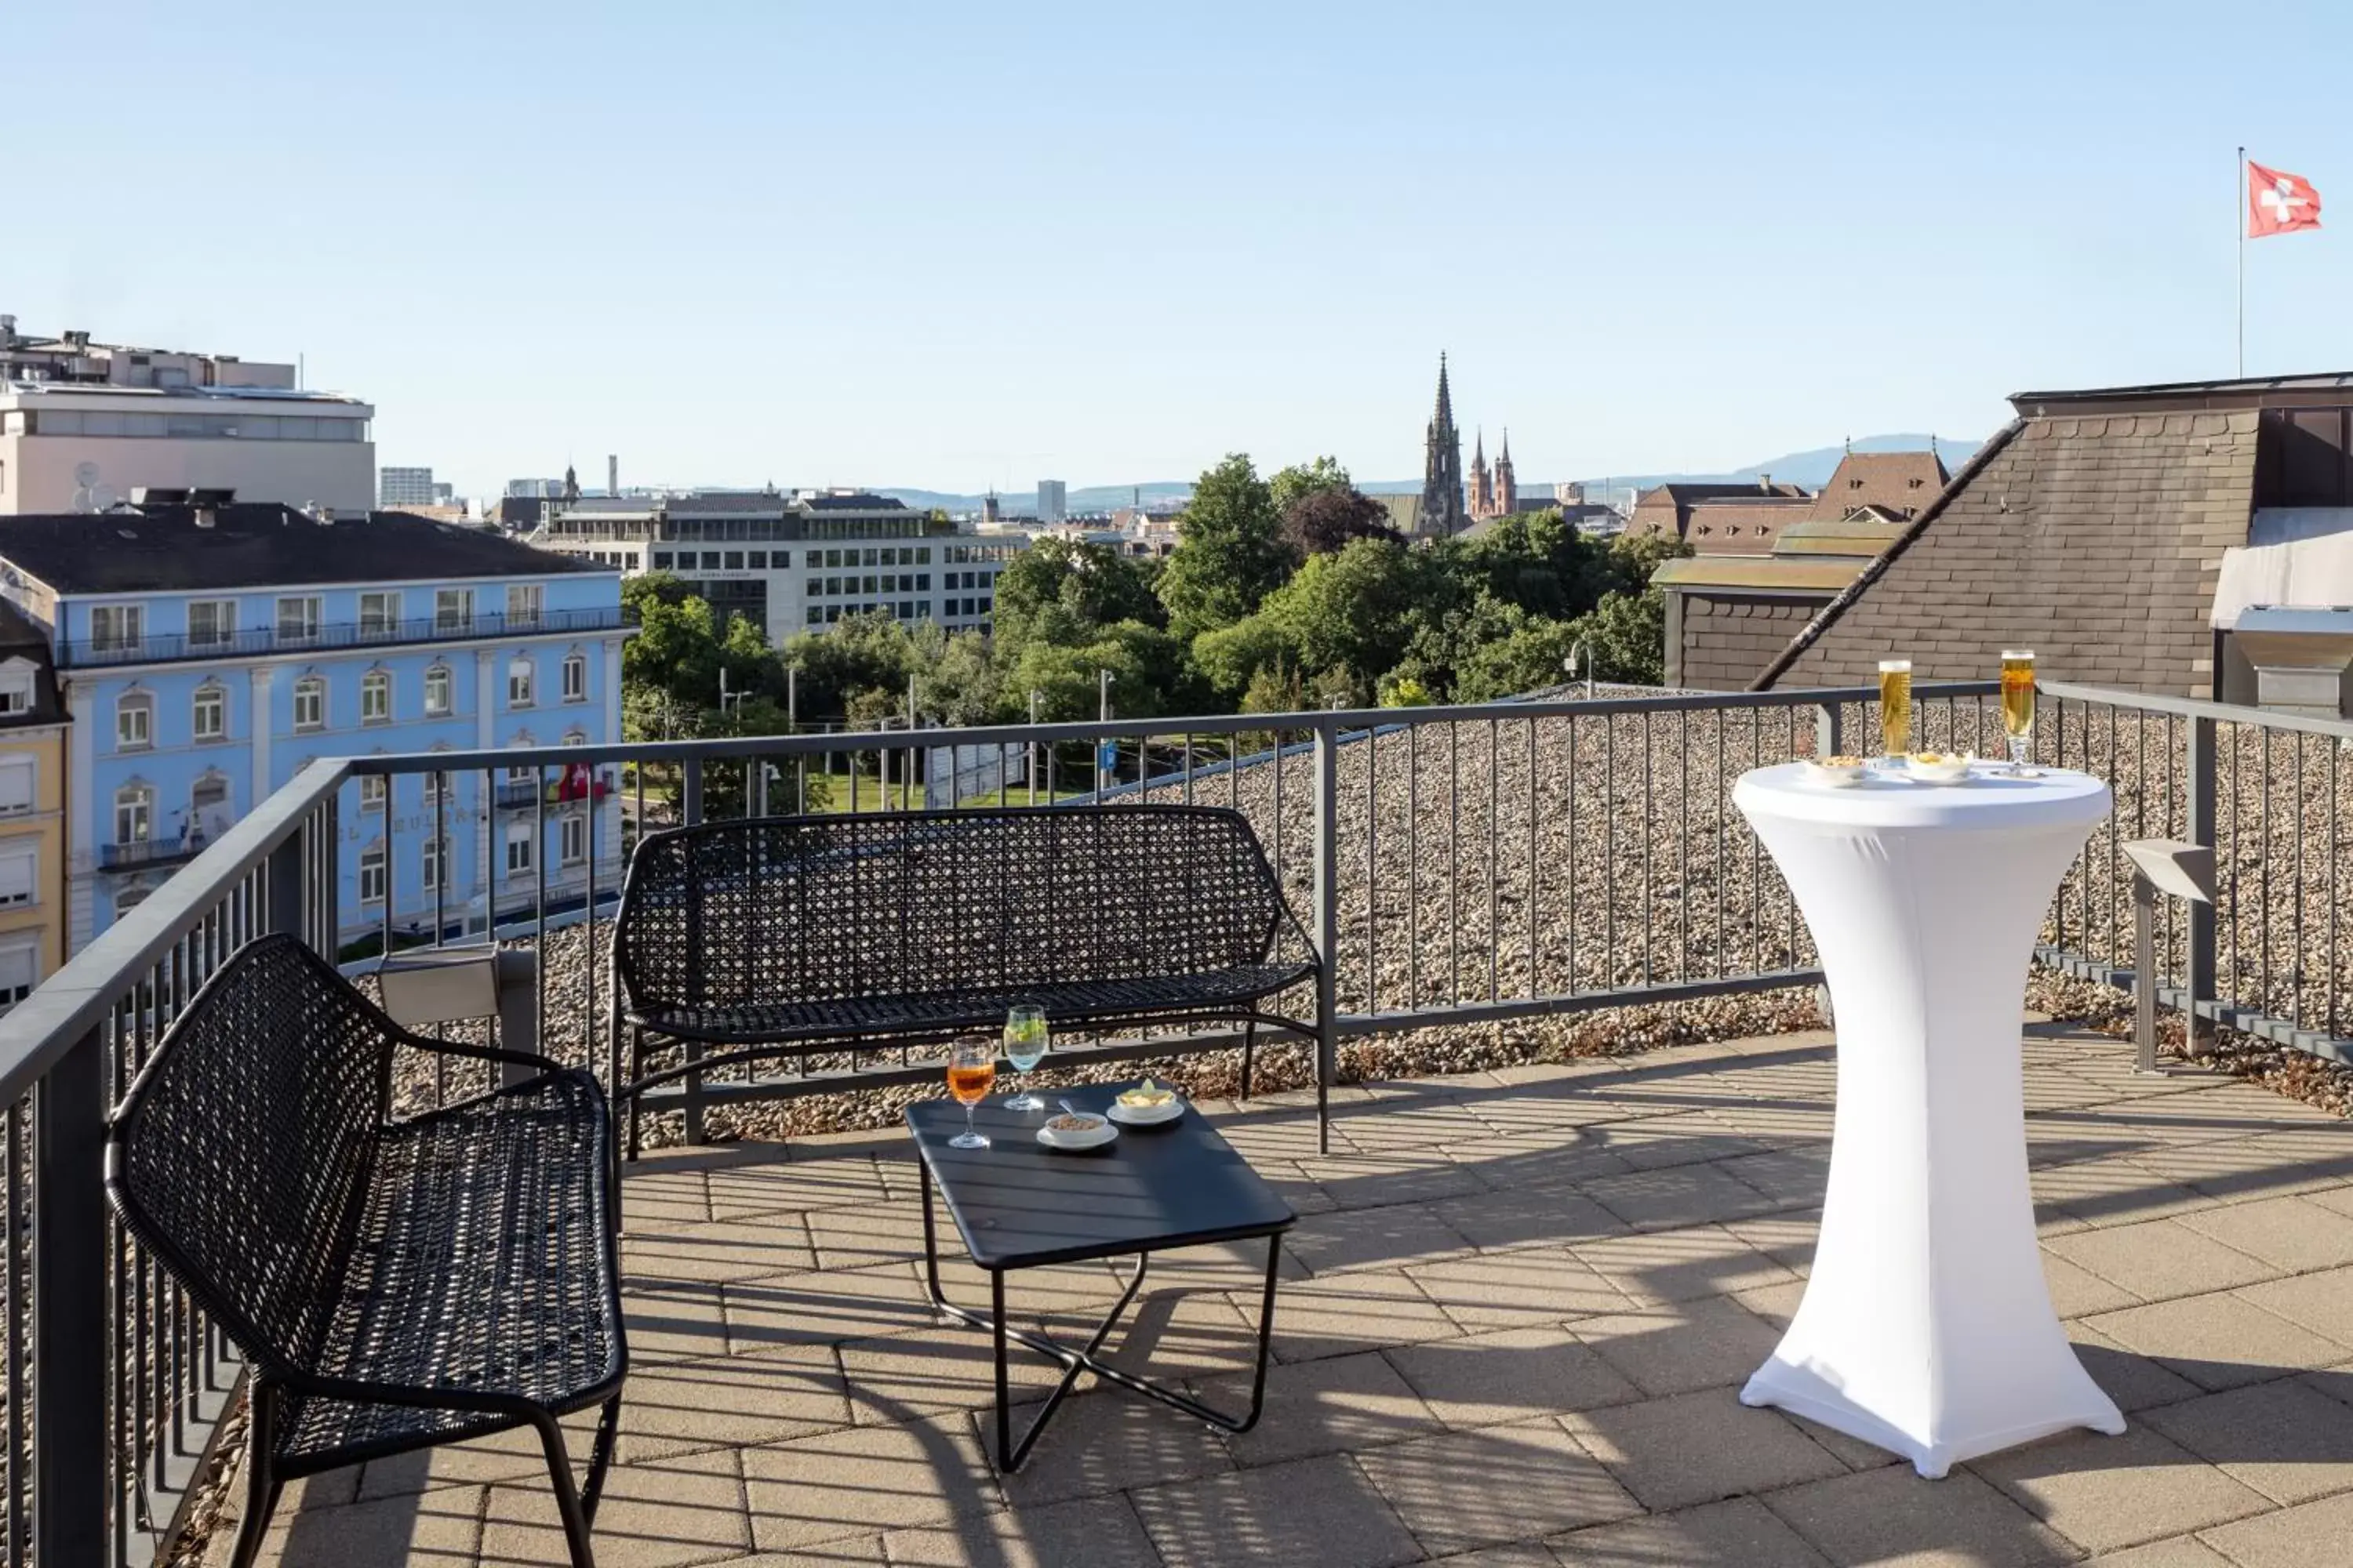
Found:
M 391 1095 L 393 1030 L 292 936 L 238 950 L 132 1084 L 108 1194 L 268 1371 L 325 1333 Z

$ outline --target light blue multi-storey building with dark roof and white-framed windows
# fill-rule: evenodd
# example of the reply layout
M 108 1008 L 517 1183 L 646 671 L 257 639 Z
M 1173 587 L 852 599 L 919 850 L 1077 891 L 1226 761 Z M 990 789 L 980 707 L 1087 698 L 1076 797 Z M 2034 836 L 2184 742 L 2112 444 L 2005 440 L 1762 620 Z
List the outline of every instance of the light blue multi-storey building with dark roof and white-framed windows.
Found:
M 407 512 L 205 501 L 0 517 L 7 597 L 49 628 L 75 719 L 68 950 L 315 757 L 621 738 L 616 569 Z M 598 769 L 452 776 L 447 799 L 360 780 L 336 825 L 346 940 L 386 903 L 421 933 L 579 900 L 591 851 L 600 889 L 621 872 Z

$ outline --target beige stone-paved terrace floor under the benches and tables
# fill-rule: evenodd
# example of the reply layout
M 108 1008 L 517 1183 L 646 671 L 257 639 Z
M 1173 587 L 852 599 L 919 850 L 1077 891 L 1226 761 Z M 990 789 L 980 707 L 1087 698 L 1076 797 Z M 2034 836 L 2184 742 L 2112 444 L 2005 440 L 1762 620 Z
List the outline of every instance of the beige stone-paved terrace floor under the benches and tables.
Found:
M 1002 1479 L 988 1342 L 918 1281 L 904 1135 L 647 1157 L 598 1561 L 2348 1561 L 2353 1126 L 2198 1070 L 2139 1079 L 2064 1025 L 2024 1051 L 2052 1298 L 2125 1436 L 1920 1481 L 1737 1401 L 1805 1288 L 1828 1164 L 1831 1046 L 1791 1034 L 1351 1088 L 1322 1159 L 1304 1095 L 1205 1107 L 1301 1213 L 1264 1422 L 1224 1436 L 1082 1385 Z M 1165 1255 L 1118 1359 L 1247 1403 L 1259 1267 Z M 1101 1265 L 1014 1281 L 1059 1331 L 1115 1295 Z M 951 1265 L 948 1288 L 981 1276 Z M 1019 1354 L 1014 1378 L 1052 1385 Z M 264 1561 L 565 1556 L 536 1448 L 508 1436 L 289 1488 Z

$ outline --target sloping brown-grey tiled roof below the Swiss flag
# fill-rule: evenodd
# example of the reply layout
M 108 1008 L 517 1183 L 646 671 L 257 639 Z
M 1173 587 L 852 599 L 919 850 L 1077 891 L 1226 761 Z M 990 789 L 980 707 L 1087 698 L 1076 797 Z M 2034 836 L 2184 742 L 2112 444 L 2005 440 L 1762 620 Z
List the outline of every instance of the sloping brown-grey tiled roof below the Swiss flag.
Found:
M 2021 407 L 2033 407 L 2019 397 Z M 2205 696 L 2221 552 L 2247 543 L 2257 409 L 2028 414 L 1969 458 L 1753 682 L 1991 679 L 2031 646 L 2054 679 Z

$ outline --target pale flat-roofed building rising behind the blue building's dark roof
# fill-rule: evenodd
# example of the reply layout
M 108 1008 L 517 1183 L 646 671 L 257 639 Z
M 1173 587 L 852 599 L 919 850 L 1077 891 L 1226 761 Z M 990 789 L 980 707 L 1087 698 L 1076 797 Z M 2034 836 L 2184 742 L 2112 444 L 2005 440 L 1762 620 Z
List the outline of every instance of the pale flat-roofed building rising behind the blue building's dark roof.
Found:
M 0 315 L 0 515 L 104 512 L 141 489 L 365 512 L 374 414 L 296 388 L 292 364 L 35 339 Z

